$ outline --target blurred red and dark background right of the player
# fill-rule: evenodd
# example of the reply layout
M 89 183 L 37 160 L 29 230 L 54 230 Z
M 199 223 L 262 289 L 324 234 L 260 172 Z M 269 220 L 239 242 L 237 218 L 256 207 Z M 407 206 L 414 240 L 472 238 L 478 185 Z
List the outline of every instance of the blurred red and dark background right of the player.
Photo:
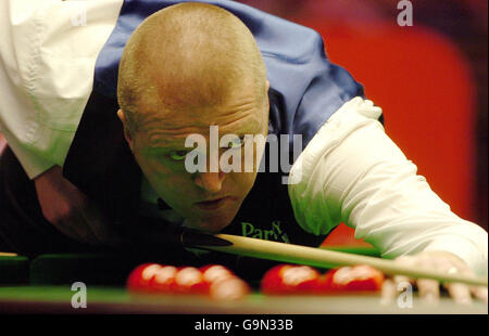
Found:
M 243 0 L 322 34 L 383 107 L 387 133 L 462 218 L 488 229 L 488 1 Z

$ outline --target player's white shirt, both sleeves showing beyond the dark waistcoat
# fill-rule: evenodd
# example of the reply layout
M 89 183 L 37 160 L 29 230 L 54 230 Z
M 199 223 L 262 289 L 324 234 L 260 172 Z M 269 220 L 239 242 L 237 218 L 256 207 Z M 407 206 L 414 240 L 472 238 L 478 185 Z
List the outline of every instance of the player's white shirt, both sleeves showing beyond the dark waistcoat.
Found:
M 0 132 L 29 178 L 63 165 L 121 7 L 0 1 Z M 291 170 L 299 183 L 289 184 L 299 224 L 321 234 L 344 222 L 384 257 L 448 250 L 487 275 L 487 232 L 451 212 L 416 175 L 377 121 L 380 113 L 355 98 L 308 144 Z

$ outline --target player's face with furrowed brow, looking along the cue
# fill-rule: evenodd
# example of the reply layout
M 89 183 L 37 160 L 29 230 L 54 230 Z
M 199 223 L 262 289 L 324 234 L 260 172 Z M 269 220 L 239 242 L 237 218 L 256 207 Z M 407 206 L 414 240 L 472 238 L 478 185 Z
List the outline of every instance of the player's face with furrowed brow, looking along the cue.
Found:
M 185 224 L 206 232 L 217 232 L 234 219 L 244 197 L 256 179 L 259 161 L 253 159 L 253 171 L 210 171 L 211 126 L 218 127 L 218 138 L 237 135 L 227 147 L 218 148 L 218 156 L 238 151 L 241 163 L 244 156 L 255 157 L 256 144 L 244 145 L 244 134 L 268 132 L 268 104 L 253 94 L 239 92 L 218 106 L 189 107 L 153 118 L 128 139 L 135 158 L 146 178 L 175 211 L 186 219 Z M 200 134 L 206 143 L 206 172 L 188 172 L 185 141 L 190 134 Z M 239 140 L 239 138 L 241 140 Z M 253 141 L 253 140 L 251 140 Z M 246 153 L 248 151 L 248 153 Z M 188 155 L 188 154 L 187 154 Z M 243 165 L 241 165 L 243 167 Z

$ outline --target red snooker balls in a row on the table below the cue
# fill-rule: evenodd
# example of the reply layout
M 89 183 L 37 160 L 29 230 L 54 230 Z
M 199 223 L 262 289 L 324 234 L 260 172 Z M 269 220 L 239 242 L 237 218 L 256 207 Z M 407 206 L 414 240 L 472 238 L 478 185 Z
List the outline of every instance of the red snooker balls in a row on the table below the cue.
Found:
M 309 266 L 278 264 L 261 281 L 266 295 L 335 294 L 378 292 L 384 274 L 369 266 L 341 267 L 322 274 Z M 221 264 L 202 268 L 145 263 L 127 279 L 133 293 L 204 295 L 213 299 L 240 299 L 251 287 L 233 271 Z

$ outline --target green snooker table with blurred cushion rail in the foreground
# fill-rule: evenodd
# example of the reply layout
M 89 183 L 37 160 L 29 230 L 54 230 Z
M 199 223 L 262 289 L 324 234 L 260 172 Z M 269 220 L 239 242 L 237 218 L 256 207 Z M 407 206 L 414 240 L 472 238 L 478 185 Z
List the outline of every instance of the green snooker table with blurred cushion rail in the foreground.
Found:
M 325 248 L 325 247 L 324 247 Z M 371 247 L 330 249 L 378 256 Z M 413 292 L 411 307 L 381 305 L 378 293 L 267 296 L 253 287 L 241 300 L 218 301 L 198 295 L 128 293 L 125 280 L 141 260 L 104 254 L 41 255 L 34 259 L 0 256 L 0 313 L 62 314 L 487 314 L 487 305 L 454 303 L 443 294 L 427 305 Z M 84 282 L 86 308 L 73 308 L 72 284 Z M 401 293 L 400 293 L 401 294 Z

